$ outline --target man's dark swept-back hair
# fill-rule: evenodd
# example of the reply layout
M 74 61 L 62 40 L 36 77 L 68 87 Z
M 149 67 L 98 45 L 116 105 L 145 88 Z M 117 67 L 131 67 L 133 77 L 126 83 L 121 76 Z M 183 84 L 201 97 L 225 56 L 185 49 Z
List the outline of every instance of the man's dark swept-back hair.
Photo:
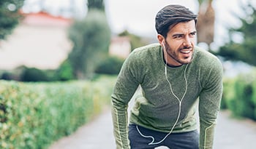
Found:
M 155 27 L 157 33 L 166 38 L 170 25 L 176 25 L 190 20 L 195 20 L 195 23 L 197 23 L 197 15 L 184 6 L 170 4 L 157 13 Z

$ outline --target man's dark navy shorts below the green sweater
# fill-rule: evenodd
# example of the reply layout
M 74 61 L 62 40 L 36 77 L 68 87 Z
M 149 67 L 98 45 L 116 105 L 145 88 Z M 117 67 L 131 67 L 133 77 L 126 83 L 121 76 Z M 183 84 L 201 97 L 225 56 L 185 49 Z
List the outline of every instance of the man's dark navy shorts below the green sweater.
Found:
M 135 124 L 129 125 L 129 142 L 131 149 L 154 149 L 166 146 L 170 149 L 198 149 L 199 134 L 197 130 L 192 132 L 171 133 L 157 132 Z M 153 141 L 154 142 L 151 143 Z M 163 138 L 165 140 L 161 141 Z M 161 141 L 161 142 L 160 142 Z M 159 142 L 159 143 L 156 143 Z M 148 145 L 150 144 L 151 145 Z

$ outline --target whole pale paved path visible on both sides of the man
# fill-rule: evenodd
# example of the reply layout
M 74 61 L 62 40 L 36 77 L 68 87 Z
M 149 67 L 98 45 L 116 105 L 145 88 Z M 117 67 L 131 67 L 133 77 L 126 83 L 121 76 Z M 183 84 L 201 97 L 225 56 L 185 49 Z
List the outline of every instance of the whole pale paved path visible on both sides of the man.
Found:
M 77 132 L 53 143 L 49 149 L 114 149 L 110 110 L 102 113 Z M 227 111 L 219 113 L 214 149 L 255 149 L 256 123 L 230 118 Z

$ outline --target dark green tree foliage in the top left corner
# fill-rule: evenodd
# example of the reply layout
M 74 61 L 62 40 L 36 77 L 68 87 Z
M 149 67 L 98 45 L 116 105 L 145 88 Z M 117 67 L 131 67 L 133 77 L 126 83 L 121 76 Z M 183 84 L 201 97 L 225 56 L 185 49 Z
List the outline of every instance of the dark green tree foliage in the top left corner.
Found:
M 6 39 L 18 25 L 22 15 L 19 13 L 24 0 L 1 0 L 0 1 L 0 40 Z

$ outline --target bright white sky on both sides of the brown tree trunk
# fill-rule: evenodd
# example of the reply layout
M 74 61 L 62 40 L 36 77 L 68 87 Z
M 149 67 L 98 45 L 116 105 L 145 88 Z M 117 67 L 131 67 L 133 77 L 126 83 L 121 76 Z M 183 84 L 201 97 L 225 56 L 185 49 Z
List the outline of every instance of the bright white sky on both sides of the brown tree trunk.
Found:
M 227 41 L 227 28 L 239 27 L 241 23 L 234 17 L 233 13 L 241 12 L 239 1 L 246 4 L 248 0 L 223 1 L 214 0 L 213 7 L 216 13 L 216 47 L 221 46 Z M 106 0 L 106 13 L 110 21 L 110 26 L 115 32 L 128 31 L 143 36 L 156 36 L 154 28 L 154 17 L 162 7 L 167 4 L 181 4 L 188 7 L 197 14 L 198 4 L 196 0 Z

